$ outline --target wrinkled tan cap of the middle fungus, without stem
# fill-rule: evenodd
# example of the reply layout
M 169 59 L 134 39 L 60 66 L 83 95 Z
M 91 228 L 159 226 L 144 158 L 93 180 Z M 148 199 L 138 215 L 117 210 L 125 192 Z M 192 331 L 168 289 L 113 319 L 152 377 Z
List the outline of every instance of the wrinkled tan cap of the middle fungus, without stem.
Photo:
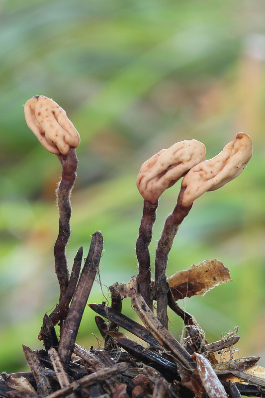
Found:
M 191 167 L 205 157 L 205 146 L 197 140 L 177 142 L 162 149 L 141 167 L 136 185 L 145 200 L 156 203 Z

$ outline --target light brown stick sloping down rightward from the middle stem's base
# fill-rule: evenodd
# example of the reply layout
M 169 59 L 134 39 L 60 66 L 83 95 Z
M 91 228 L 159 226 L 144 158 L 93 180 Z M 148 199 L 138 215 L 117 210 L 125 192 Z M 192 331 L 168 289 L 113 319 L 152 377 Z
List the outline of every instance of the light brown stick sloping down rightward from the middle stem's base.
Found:
M 172 355 L 174 355 L 177 363 L 192 373 L 196 368 L 195 362 L 175 337 L 173 337 L 172 334 L 161 324 L 158 318 L 146 305 L 140 294 L 133 294 L 132 304 L 140 319 L 158 340 L 160 345 L 165 349 L 169 349 Z

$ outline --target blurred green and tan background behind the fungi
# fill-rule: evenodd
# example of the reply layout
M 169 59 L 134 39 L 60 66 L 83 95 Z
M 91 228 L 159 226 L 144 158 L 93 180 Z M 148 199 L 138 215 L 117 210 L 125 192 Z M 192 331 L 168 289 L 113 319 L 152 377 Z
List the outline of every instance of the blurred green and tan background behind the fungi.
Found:
M 81 135 L 69 267 L 100 229 L 104 255 L 90 302 L 137 273 L 142 163 L 184 139 L 219 153 L 239 131 L 254 140 L 244 173 L 197 199 L 178 231 L 168 275 L 218 258 L 234 282 L 181 303 L 209 342 L 239 326 L 239 355 L 265 366 L 265 3 L 260 0 L 0 1 L 0 371 L 27 369 L 58 300 L 53 265 L 61 165 L 27 128 L 23 104 L 58 102 Z M 160 199 L 151 255 L 179 183 Z M 135 314 L 124 300 L 124 312 Z M 96 346 L 87 308 L 78 335 Z M 178 338 L 182 323 L 170 313 Z

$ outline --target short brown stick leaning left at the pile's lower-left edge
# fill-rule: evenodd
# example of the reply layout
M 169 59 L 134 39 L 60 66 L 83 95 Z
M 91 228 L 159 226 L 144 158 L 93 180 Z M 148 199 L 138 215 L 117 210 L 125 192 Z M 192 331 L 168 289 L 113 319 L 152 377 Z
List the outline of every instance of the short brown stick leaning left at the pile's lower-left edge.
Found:
M 23 351 L 24 351 L 28 366 L 30 367 L 31 372 L 36 381 L 38 391 L 39 391 L 40 395 L 45 397 L 46 395 L 52 393 L 50 381 L 45 373 L 45 369 L 42 366 L 40 360 L 37 358 L 37 356 L 34 354 L 34 352 L 29 347 L 27 347 L 24 344 L 22 344 L 22 347 L 23 347 Z

